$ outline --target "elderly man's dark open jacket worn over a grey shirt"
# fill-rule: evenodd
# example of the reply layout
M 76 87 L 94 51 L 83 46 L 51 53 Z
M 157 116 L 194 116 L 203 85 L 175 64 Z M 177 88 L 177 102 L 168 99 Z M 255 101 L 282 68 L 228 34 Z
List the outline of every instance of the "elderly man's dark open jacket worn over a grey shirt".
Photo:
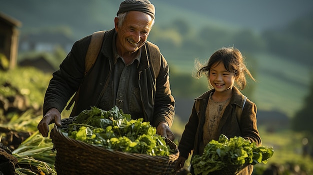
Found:
M 52 107 L 62 111 L 81 82 L 80 93 L 71 116 L 76 116 L 82 110 L 99 104 L 112 70 L 114 33 L 114 29 L 105 32 L 99 55 L 84 79 L 84 60 L 91 35 L 73 44 L 71 51 L 60 64 L 59 70 L 52 74 L 53 77 L 44 97 L 43 114 Z M 147 43 L 141 47 L 141 58 L 137 69 L 144 120 L 149 121 L 154 127 L 160 121 L 166 121 L 171 126 L 175 102 L 169 88 L 168 65 L 160 54 L 160 70 L 155 79 L 146 47 Z M 111 99 L 107 100 L 111 101 L 111 105 L 107 107 L 110 109 L 115 103 Z

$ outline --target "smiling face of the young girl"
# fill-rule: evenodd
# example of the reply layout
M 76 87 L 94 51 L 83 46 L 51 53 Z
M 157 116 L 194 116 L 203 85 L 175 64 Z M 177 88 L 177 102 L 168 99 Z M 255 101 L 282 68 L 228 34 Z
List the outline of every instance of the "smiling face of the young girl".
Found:
M 209 71 L 209 82 L 216 92 L 232 90 L 235 76 L 225 69 L 222 62 L 216 63 Z

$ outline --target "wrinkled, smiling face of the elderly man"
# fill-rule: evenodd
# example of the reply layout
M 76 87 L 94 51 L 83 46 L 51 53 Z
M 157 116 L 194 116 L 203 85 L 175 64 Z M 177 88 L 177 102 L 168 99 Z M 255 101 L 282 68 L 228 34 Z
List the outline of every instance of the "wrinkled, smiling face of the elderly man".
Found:
M 140 11 L 129 11 L 121 25 L 114 18 L 116 48 L 119 54 L 137 51 L 146 41 L 152 27 L 150 15 Z

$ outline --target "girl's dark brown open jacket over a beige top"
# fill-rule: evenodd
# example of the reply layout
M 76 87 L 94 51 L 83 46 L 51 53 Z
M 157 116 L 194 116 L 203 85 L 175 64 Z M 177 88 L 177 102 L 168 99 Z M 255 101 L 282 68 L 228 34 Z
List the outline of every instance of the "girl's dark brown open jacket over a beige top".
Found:
M 199 150 L 199 145 L 203 144 L 202 128 L 205 120 L 205 109 L 208 103 L 209 94 L 213 91 L 214 89 L 205 92 L 194 101 L 189 121 L 185 126 L 178 145 L 179 155 L 183 158 L 188 158 L 188 155 L 192 150 L 192 155 L 201 155 L 203 153 L 203 150 Z M 237 121 L 235 108 L 242 108 L 243 99 L 244 96 L 236 87 L 233 87 L 230 102 L 226 106 L 220 119 L 218 135 L 224 134 L 227 138 L 241 136 L 260 145 L 261 138 L 256 126 L 256 106 L 249 99 L 247 99 L 244 104 L 240 121 Z M 195 102 L 197 100 L 200 102 L 199 111 L 196 111 L 195 108 Z M 218 138 L 215 138 L 214 140 L 218 140 Z M 248 175 L 244 172 L 242 173 L 243 174 L 240 175 Z M 252 172 L 250 171 L 250 173 Z

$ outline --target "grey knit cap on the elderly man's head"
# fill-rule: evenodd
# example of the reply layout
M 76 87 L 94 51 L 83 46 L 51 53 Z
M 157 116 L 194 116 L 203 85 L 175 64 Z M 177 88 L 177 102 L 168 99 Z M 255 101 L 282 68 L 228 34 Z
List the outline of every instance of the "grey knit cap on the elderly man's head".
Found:
M 154 19 L 155 8 L 149 0 L 124 0 L 120 3 L 117 15 L 126 11 L 141 11 Z

